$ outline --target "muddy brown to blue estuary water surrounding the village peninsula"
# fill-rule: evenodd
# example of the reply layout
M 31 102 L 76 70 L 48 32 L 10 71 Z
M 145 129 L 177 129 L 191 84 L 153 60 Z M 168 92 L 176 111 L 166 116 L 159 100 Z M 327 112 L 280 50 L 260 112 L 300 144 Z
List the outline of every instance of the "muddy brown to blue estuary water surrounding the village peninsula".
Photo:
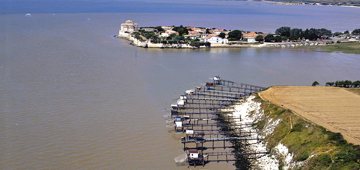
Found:
M 360 8 L 203 0 L 0 4 L 1 169 L 188 169 L 174 162 L 183 145 L 168 132 L 164 108 L 208 77 L 260 86 L 360 79 L 356 54 L 139 48 L 113 37 L 128 19 L 139 26 L 351 31 L 360 27 Z

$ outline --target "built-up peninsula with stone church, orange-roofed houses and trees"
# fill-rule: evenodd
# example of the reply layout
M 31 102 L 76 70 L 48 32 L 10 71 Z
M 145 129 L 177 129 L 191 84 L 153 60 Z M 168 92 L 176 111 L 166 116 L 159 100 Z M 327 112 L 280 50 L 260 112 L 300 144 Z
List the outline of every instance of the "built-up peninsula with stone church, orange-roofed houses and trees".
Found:
M 263 33 L 183 25 L 138 27 L 138 23 L 127 20 L 115 36 L 127 38 L 140 47 L 296 47 L 359 41 L 360 29 L 332 33 L 325 28 L 302 30 L 282 26 L 275 33 Z

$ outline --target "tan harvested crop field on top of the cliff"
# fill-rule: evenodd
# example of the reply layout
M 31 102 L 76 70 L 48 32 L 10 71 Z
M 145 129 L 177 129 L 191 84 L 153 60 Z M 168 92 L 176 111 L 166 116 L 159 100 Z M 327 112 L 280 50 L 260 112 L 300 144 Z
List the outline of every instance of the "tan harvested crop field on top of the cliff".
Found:
M 360 95 L 356 92 L 340 87 L 273 86 L 260 96 L 360 144 Z

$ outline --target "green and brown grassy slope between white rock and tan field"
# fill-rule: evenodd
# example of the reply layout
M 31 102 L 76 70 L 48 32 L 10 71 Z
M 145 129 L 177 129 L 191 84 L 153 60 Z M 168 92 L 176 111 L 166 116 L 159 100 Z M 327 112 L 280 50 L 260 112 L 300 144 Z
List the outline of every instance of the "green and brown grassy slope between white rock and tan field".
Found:
M 327 131 L 325 128 L 312 124 L 295 115 L 291 110 L 279 107 L 263 100 L 259 94 L 254 100 L 262 103 L 265 120 L 258 122 L 260 130 L 270 117 L 281 118 L 272 134 L 265 137 L 268 147 L 274 147 L 279 142 L 294 153 L 297 161 L 307 161 L 298 169 L 359 169 L 360 146 L 348 144 L 340 133 Z M 290 123 L 291 116 L 291 123 Z M 291 128 L 292 125 L 292 128 Z M 308 158 L 314 154 L 313 157 Z M 282 162 L 283 160 L 280 160 Z M 282 167 L 282 165 L 280 165 Z

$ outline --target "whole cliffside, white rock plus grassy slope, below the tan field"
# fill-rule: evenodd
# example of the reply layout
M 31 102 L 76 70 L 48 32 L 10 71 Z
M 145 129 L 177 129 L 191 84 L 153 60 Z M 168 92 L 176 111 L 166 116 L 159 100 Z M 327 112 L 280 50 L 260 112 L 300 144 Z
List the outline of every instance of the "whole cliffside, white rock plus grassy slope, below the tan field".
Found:
M 359 169 L 360 146 L 347 143 L 340 133 L 304 120 L 291 110 L 263 100 L 256 93 L 236 104 L 234 116 L 255 122 L 264 139 L 246 151 L 271 150 L 251 160 L 251 169 Z

